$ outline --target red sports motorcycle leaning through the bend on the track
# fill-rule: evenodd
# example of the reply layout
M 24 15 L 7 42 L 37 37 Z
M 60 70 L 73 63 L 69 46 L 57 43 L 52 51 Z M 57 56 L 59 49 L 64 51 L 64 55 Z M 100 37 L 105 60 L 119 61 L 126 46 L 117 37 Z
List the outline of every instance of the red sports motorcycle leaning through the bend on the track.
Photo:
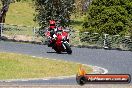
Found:
M 53 34 L 52 32 L 47 31 L 45 35 L 48 38 L 48 46 L 52 47 L 57 53 L 67 52 L 68 54 L 72 54 L 71 47 L 69 45 L 69 35 L 68 32 L 63 31 L 61 28 L 58 28 L 58 31 Z

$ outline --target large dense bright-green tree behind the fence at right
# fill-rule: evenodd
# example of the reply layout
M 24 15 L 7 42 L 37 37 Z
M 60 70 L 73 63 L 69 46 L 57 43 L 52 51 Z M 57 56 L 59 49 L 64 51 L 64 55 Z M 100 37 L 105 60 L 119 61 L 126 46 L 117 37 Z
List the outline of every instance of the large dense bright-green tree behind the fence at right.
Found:
M 132 30 L 132 0 L 93 0 L 87 14 L 85 31 L 113 35 Z

